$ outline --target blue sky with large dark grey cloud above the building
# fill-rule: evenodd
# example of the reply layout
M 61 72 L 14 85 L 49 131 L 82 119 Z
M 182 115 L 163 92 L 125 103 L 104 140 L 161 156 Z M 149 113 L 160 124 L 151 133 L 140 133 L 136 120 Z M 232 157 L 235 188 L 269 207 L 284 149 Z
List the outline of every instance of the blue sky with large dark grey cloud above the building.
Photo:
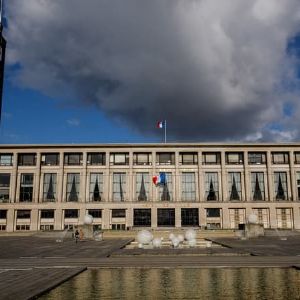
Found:
M 299 0 L 4 8 L 0 143 L 299 141 Z

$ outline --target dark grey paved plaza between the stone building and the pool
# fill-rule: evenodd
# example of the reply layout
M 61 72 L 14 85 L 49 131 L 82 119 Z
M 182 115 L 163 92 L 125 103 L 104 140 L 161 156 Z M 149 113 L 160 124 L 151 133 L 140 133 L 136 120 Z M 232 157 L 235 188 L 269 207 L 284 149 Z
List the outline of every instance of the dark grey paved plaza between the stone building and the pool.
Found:
M 132 237 L 57 242 L 0 237 L 0 299 L 31 299 L 87 268 L 225 268 L 300 266 L 300 235 L 243 240 L 211 238 L 223 247 L 127 249 Z M 26 293 L 24 293 L 26 291 Z

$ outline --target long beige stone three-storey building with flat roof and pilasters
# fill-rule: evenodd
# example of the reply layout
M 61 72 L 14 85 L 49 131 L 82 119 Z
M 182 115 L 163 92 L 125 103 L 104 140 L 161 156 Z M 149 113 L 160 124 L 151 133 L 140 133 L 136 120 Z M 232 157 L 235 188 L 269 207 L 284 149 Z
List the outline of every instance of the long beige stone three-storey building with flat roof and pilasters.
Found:
M 154 176 L 164 173 L 165 184 Z M 300 144 L 1 145 L 0 230 L 300 229 Z

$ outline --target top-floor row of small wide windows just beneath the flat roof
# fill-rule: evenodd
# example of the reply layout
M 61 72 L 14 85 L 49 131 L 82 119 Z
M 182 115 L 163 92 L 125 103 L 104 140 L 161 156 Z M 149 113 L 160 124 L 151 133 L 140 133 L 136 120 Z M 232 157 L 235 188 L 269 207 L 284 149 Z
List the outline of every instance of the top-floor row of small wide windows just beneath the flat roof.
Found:
M 288 164 L 289 152 L 272 152 L 273 164 Z M 243 164 L 243 152 L 226 152 L 226 164 Z M 249 164 L 266 164 L 265 152 L 249 152 Z M 46 166 L 57 166 L 60 162 L 59 153 L 43 153 L 41 155 L 41 164 Z M 300 152 L 294 152 L 294 162 L 300 164 Z M 19 166 L 35 166 L 37 163 L 36 153 L 19 153 L 18 165 Z M 129 165 L 129 153 L 110 153 L 110 165 Z M 180 152 L 179 163 L 182 165 L 197 165 L 198 153 L 197 152 Z M 220 152 L 203 152 L 203 164 L 221 164 Z M 83 153 L 64 153 L 64 165 L 76 166 L 83 164 Z M 87 153 L 87 165 L 105 165 L 106 154 L 104 152 Z M 151 165 L 152 153 L 133 153 L 134 165 Z M 158 165 L 174 165 L 175 153 L 174 152 L 158 152 L 156 153 L 156 164 Z M 13 154 L 2 153 L 0 154 L 0 166 L 12 166 Z

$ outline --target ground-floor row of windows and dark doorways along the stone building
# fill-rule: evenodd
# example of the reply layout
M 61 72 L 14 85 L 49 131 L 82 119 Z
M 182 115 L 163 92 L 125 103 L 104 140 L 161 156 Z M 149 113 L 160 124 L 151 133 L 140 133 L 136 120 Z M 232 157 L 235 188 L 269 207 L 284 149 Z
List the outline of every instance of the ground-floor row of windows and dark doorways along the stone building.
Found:
M 210 229 L 221 228 L 222 209 L 221 208 L 206 208 L 206 226 Z M 79 218 L 78 209 L 66 209 L 64 210 L 64 219 L 77 219 Z M 100 209 L 90 209 L 88 214 L 94 218 L 102 218 L 102 211 Z M 253 213 L 257 215 L 258 223 L 263 224 L 265 228 L 270 228 L 270 212 L 268 208 L 254 208 Z M 293 216 L 291 208 L 277 208 L 276 220 L 278 228 L 292 228 Z M 111 210 L 112 222 L 121 223 L 113 224 L 112 229 L 125 229 L 126 222 L 126 210 L 125 209 L 112 209 Z M 0 219 L 6 219 L 7 211 L 0 210 Z M 19 221 L 16 230 L 29 230 L 29 228 L 22 228 L 21 226 L 29 226 L 26 222 L 30 222 L 31 211 L 30 210 L 17 210 L 16 220 Z M 41 210 L 41 221 L 48 222 L 41 225 L 41 230 L 53 230 L 53 225 L 49 222 L 54 220 L 54 210 Z M 22 221 L 23 220 L 23 221 Z M 198 208 L 181 208 L 181 226 L 199 226 L 199 209 Z M 74 220 L 70 220 L 74 222 Z M 69 221 L 69 222 L 70 222 Z M 246 222 L 246 211 L 244 208 L 231 208 L 229 209 L 229 221 L 230 228 L 239 228 L 240 224 Z M 21 224 L 20 224 L 21 223 Z M 96 221 L 97 223 L 97 221 Z M 5 224 L 1 224 L 5 226 Z M 74 224 L 73 224 L 74 225 Z M 65 224 L 65 227 L 73 227 L 71 224 Z M 137 208 L 133 209 L 133 225 L 151 227 L 151 209 L 150 208 Z M 50 227 L 51 226 L 51 227 Z M 96 225 L 99 226 L 99 225 Z M 157 226 L 175 226 L 175 208 L 158 208 L 157 209 Z M 48 229 L 46 228 L 48 227 Z M 116 227 L 116 228 L 114 228 Z M 119 227 L 119 228 L 118 228 Z M 5 230 L 5 229 L 2 229 Z

